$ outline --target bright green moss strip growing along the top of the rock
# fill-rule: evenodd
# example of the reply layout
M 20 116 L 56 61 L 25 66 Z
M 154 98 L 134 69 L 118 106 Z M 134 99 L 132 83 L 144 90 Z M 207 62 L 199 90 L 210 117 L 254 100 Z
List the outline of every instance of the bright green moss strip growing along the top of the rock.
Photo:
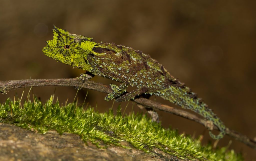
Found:
M 179 135 L 176 130 L 164 129 L 143 114 L 132 113 L 122 117 L 119 107 L 114 116 L 111 110 L 97 113 L 93 108 L 83 110 L 74 103 L 61 107 L 58 102 L 52 101 L 53 97 L 42 104 L 35 98 L 34 101 L 26 101 L 21 108 L 19 101 L 7 99 L 0 104 L 0 122 L 33 128 L 40 133 L 52 129 L 60 134 L 74 133 L 84 142 L 91 141 L 100 148 L 111 144 L 122 146 L 120 141 L 125 140 L 147 153 L 154 153 L 153 149 L 158 148 L 190 160 L 243 160 L 233 150 L 228 151 L 226 147 L 213 150 L 210 145 L 201 146 L 200 141 Z

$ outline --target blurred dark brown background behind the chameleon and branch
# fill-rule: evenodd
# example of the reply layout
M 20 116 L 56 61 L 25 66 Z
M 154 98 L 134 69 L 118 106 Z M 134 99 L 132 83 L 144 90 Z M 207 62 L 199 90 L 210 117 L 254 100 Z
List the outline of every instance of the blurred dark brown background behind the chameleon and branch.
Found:
M 70 78 L 83 72 L 42 53 L 45 41 L 52 39 L 55 24 L 96 42 L 115 42 L 143 51 L 197 92 L 227 127 L 256 137 L 256 1 L 0 2 L 1 80 Z M 97 76 L 93 80 L 111 82 Z M 44 102 L 54 90 L 34 87 L 33 93 Z M 0 95 L 0 101 L 16 93 L 21 97 L 22 91 Z M 56 87 L 55 96 L 61 103 L 67 99 L 72 102 L 76 91 Z M 79 102 L 86 92 L 78 92 Z M 27 93 L 25 89 L 25 97 Z M 107 111 L 112 101 L 104 101 L 104 96 L 89 90 L 87 102 L 100 112 Z M 122 103 L 123 109 L 126 103 Z M 131 111 L 130 105 L 126 112 Z M 117 106 L 115 103 L 114 109 Z M 137 106 L 133 109 L 141 111 Z M 203 143 L 211 140 L 208 131 L 197 123 L 164 112 L 159 115 L 164 127 L 172 126 L 195 137 L 204 135 Z M 230 140 L 225 136 L 218 145 L 227 146 Z M 256 158 L 255 150 L 236 140 L 230 149 L 242 152 L 247 160 Z

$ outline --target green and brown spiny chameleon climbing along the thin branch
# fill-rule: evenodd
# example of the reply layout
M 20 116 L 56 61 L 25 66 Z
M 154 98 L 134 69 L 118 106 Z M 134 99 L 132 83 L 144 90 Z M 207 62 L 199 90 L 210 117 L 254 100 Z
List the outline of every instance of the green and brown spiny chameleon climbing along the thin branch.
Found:
M 93 38 L 71 34 L 56 26 L 53 34 L 53 39 L 46 41 L 42 49 L 45 55 L 121 83 L 110 84 L 112 92 L 104 98 L 106 101 L 128 101 L 142 94 L 160 96 L 211 121 L 220 131 L 218 135 L 209 131 L 213 139 L 221 139 L 226 134 L 225 125 L 208 105 L 149 55 L 124 45 L 97 43 Z M 129 85 L 137 88 L 126 92 Z

